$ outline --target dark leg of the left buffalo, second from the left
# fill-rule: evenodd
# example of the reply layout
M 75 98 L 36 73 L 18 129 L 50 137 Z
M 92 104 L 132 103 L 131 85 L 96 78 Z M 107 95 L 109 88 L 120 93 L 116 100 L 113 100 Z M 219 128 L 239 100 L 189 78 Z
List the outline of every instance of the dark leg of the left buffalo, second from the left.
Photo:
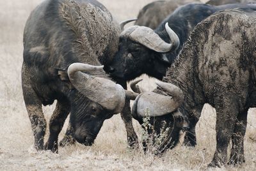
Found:
M 52 152 L 58 152 L 58 135 L 65 123 L 67 115 L 70 112 L 70 105 L 67 101 L 59 101 L 51 116 L 49 123 L 50 135 L 45 143 L 45 149 L 50 149 Z

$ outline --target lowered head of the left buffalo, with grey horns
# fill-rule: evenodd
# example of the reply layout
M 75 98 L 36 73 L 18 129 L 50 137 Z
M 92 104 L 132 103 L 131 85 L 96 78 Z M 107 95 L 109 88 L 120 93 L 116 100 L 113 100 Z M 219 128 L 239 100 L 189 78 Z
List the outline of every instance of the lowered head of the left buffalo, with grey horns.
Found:
M 68 77 L 74 87 L 70 92 L 70 123 L 77 142 L 84 145 L 92 145 L 104 120 L 124 108 L 125 90 L 122 86 L 93 76 L 102 68 L 82 63 L 73 63 L 68 67 Z M 126 98 L 132 95 L 129 93 Z

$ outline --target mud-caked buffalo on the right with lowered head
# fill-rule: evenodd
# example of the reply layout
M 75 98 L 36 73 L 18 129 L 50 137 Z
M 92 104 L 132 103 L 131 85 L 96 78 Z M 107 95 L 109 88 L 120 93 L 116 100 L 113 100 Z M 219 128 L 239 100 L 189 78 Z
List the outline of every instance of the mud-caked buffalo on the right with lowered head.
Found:
M 133 115 L 145 117 L 142 111 L 149 108 L 150 116 L 164 116 L 183 101 L 179 110 L 188 116 L 190 127 L 185 142 L 195 145 L 195 124 L 204 104 L 209 103 L 216 109 L 217 116 L 217 145 L 209 166 L 227 162 L 230 139 L 228 164 L 243 163 L 247 112 L 248 108 L 256 107 L 255 27 L 256 6 L 221 11 L 198 24 L 168 69 L 163 79 L 165 83 L 158 84 L 154 91 L 159 95 L 141 93 L 135 100 Z M 173 98 L 168 100 L 168 96 Z M 148 105 L 141 105 L 141 102 Z M 157 103 L 163 104 L 161 108 Z M 172 125 L 173 130 L 177 129 Z M 177 139 L 173 135 L 172 132 L 171 138 Z

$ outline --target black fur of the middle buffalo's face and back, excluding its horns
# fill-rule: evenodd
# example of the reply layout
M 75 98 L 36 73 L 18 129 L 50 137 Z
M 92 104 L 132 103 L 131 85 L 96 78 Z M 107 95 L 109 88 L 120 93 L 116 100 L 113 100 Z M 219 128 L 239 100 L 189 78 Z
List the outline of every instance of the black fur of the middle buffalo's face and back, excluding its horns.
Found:
M 121 36 L 119 50 L 116 53 L 113 62 L 110 64 L 111 71 L 109 72 L 111 77 L 132 80 L 139 77 L 141 74 L 146 73 L 151 77 L 161 80 L 165 75 L 167 68 L 173 63 L 182 46 L 186 40 L 188 40 L 189 35 L 196 24 L 216 11 L 243 6 L 250 5 L 227 4 L 223 6 L 211 6 L 207 4 L 186 4 L 180 6 L 154 30 L 164 41 L 170 43 L 169 36 L 164 28 L 164 24 L 168 22 L 169 26 L 179 36 L 179 48 L 177 48 L 177 50 L 171 50 L 166 54 L 154 52 L 139 43 L 129 40 L 126 36 Z M 128 54 L 131 54 L 132 57 L 128 57 Z M 166 55 L 168 58 L 168 63 L 161 60 L 161 56 L 163 55 Z

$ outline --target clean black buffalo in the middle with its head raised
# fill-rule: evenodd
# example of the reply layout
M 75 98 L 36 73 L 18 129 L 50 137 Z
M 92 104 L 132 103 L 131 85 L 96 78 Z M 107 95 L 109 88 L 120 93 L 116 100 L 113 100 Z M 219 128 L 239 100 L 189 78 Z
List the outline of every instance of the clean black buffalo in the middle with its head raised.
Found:
M 132 80 L 146 73 L 161 80 L 198 22 L 216 11 L 251 5 L 187 4 L 175 10 L 154 31 L 143 26 L 128 27 L 120 35 L 119 50 L 107 71 L 116 79 Z

